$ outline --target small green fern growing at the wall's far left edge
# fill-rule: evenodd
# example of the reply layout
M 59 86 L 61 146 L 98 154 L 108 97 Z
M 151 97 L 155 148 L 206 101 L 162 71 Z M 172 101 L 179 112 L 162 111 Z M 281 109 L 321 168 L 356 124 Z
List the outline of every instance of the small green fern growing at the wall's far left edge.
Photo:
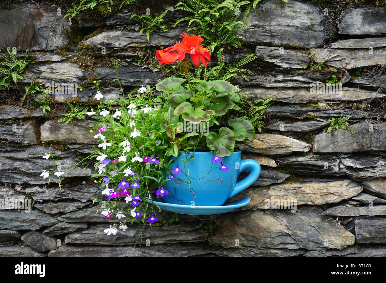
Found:
M 19 80 L 24 79 L 21 74 L 29 63 L 26 60 L 28 57 L 28 50 L 26 52 L 27 56 L 25 59 L 19 60 L 14 51 L 9 47 L 7 47 L 8 56 L 6 53 L 0 51 L 0 55 L 3 59 L 2 62 L 0 62 L 0 85 L 8 87 L 12 81 L 16 84 Z

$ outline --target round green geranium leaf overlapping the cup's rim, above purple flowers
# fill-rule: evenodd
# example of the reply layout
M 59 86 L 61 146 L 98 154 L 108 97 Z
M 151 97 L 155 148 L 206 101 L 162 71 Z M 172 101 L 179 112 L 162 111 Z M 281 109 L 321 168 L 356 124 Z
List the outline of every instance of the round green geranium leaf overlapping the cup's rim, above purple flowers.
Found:
M 224 157 L 233 153 L 236 138 L 231 129 L 222 127 L 218 130 L 218 134 L 210 132 L 205 141 L 218 156 Z

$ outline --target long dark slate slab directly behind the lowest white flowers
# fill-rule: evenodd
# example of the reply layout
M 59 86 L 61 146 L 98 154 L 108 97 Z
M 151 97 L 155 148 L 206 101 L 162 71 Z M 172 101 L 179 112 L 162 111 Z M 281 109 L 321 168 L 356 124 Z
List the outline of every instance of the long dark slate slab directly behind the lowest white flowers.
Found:
M 93 244 L 93 245 L 113 245 L 123 246 L 135 244 L 142 225 L 129 225 L 123 232 L 118 229 L 116 235 L 107 235 L 104 230 L 108 224 L 89 226 L 84 231 L 78 231 L 66 236 L 66 243 L 71 244 Z M 146 227 L 149 228 L 149 227 Z M 198 243 L 208 239 L 208 230 L 201 228 L 196 223 L 174 224 L 169 226 L 152 227 L 144 229 L 142 239 L 149 239 L 152 244 L 170 244 L 179 242 Z

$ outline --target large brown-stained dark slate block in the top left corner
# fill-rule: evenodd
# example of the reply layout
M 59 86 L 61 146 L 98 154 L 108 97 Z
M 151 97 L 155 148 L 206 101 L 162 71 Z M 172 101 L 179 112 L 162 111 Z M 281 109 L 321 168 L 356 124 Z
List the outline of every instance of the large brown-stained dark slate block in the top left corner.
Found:
M 67 20 L 56 8 L 34 3 L 19 3 L 1 10 L 0 49 L 56 50 L 68 44 Z

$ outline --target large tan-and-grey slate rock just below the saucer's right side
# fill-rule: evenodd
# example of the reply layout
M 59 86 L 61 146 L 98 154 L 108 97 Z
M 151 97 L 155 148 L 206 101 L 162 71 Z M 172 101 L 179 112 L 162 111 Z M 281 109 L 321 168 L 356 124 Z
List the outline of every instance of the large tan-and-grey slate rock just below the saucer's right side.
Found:
M 290 250 L 342 249 L 354 244 L 355 236 L 340 225 L 326 221 L 317 206 L 305 206 L 296 213 L 288 210 L 237 211 L 219 215 L 217 234 L 210 243 L 226 248 L 286 248 Z M 327 247 L 325 243 L 328 243 Z

